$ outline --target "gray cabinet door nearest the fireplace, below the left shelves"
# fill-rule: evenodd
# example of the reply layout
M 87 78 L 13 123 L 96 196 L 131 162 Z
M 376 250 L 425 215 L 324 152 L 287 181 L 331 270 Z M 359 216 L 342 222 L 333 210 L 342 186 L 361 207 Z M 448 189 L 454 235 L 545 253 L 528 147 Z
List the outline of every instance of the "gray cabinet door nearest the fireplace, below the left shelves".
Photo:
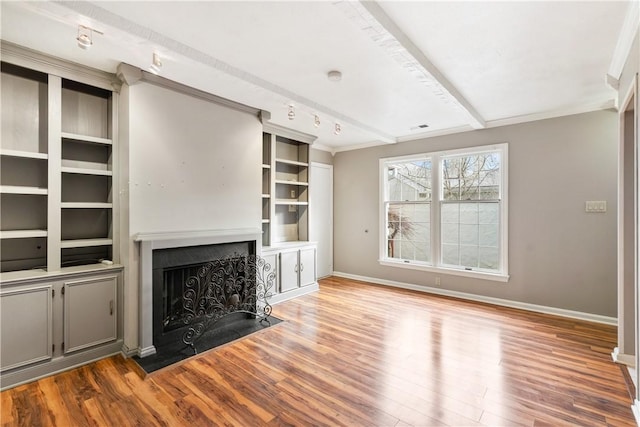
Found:
M 117 338 L 117 277 L 65 282 L 65 354 Z

